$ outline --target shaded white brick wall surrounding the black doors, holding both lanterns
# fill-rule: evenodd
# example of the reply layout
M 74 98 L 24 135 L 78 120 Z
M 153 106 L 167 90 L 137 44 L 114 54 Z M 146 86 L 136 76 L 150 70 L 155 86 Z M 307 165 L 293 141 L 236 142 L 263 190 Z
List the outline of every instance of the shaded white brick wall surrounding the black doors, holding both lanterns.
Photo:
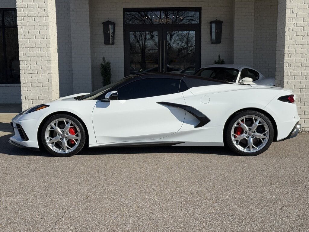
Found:
M 226 63 L 233 62 L 233 17 L 232 1 L 208 0 L 208 1 L 155 1 L 146 0 L 89 0 L 90 25 L 91 25 L 91 67 L 92 88 L 102 86 L 99 64 L 102 57 L 107 58 L 112 65 L 112 80 L 124 77 L 124 41 L 123 41 L 123 8 L 124 7 L 202 7 L 201 28 L 201 66 L 212 64 L 213 60 L 221 58 Z M 223 21 L 222 43 L 210 44 L 211 20 L 218 18 Z M 116 23 L 115 45 L 104 45 L 102 22 L 107 19 Z M 72 43 L 73 44 L 73 43 Z

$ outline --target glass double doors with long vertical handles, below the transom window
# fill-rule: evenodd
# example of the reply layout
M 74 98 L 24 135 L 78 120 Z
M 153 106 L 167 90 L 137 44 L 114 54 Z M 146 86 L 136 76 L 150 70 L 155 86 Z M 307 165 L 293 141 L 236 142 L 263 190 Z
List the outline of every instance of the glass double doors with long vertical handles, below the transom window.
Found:
M 126 26 L 125 75 L 141 72 L 193 73 L 201 65 L 198 26 Z

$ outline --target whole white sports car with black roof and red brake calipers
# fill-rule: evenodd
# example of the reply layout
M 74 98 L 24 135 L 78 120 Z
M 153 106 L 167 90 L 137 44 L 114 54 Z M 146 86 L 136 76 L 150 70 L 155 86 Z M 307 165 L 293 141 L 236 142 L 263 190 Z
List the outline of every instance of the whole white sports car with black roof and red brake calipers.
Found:
M 241 100 L 239 100 L 241 99 Z M 177 73 L 132 75 L 16 115 L 10 143 L 72 156 L 84 146 L 223 146 L 241 155 L 295 137 L 294 93 Z

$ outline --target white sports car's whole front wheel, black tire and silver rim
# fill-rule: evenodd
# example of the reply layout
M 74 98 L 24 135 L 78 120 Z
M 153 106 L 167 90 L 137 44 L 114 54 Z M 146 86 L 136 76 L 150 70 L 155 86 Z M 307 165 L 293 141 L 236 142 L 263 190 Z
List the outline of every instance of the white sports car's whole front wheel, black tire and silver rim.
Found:
M 85 129 L 78 119 L 57 114 L 44 123 L 41 140 L 49 153 L 58 157 L 73 156 L 85 145 Z

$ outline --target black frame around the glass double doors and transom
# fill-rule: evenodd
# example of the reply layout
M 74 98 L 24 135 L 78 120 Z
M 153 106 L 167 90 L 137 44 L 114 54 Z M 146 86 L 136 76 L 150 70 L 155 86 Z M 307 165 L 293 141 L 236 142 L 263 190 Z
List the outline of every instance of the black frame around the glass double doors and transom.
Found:
M 199 11 L 199 23 L 198 24 L 125 24 L 125 13 L 132 11 Z M 165 71 L 166 68 L 166 56 L 165 60 L 160 54 L 164 53 L 164 40 L 166 40 L 167 31 L 195 31 L 195 52 L 197 53 L 195 58 L 195 70 L 201 67 L 201 7 L 160 7 L 160 8 L 123 8 L 123 39 L 124 39 L 124 72 L 125 76 L 129 75 L 127 68 L 130 67 L 130 49 L 127 49 L 129 45 L 129 32 L 130 31 L 158 31 L 158 68 L 160 71 Z M 161 39 L 162 42 L 161 42 Z M 161 49 L 160 49 L 161 48 Z M 161 69 L 162 68 L 162 69 Z

